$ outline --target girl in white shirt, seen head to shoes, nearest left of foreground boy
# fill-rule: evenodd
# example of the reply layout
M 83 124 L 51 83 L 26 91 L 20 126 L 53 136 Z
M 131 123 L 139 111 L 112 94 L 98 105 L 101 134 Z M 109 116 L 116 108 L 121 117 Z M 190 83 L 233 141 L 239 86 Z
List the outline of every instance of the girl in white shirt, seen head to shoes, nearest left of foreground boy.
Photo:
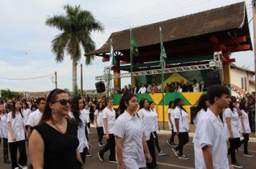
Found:
M 183 146 L 188 143 L 188 113 L 183 109 L 184 101 L 180 98 L 174 100 L 175 109 L 173 110 L 175 119 L 175 129 L 178 135 L 178 146 L 173 148 L 173 153 L 180 160 L 188 160 L 188 157 L 183 154 Z

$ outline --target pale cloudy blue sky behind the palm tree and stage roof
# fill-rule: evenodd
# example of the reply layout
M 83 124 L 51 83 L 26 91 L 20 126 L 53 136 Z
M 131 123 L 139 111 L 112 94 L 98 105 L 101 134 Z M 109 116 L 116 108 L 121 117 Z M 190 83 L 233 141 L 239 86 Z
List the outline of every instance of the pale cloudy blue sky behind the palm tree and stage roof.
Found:
M 58 74 L 58 88 L 72 89 L 72 62 L 65 57 L 55 62 L 51 52 L 52 39 L 60 34 L 58 29 L 45 25 L 45 20 L 54 14 L 64 14 L 63 6 L 80 5 L 91 11 L 96 20 L 104 25 L 104 32 L 92 32 L 92 39 L 99 49 L 111 32 L 129 27 L 152 24 L 178 16 L 235 4 L 241 0 L 0 0 L 0 89 L 23 92 L 49 91 L 55 87 L 54 72 Z M 252 19 L 251 0 L 246 0 L 248 20 Z M 252 21 L 250 34 L 253 42 Z M 253 52 L 236 52 L 231 55 L 240 67 L 254 69 Z M 83 90 L 93 90 L 95 77 L 104 74 L 108 62 L 100 57 L 85 66 L 82 57 L 78 63 L 78 87 L 80 88 L 80 64 L 83 64 Z M 45 76 L 45 77 L 43 77 Z M 22 80 L 41 77 L 37 79 Z M 12 79 L 6 79 L 12 78 Z M 129 78 L 122 79 L 122 86 Z

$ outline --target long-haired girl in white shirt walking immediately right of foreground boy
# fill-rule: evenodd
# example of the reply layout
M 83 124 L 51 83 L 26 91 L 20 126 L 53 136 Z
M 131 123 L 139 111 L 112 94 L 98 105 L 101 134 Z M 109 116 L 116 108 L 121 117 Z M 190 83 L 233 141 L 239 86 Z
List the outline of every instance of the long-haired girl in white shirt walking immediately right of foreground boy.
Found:
M 234 167 L 243 168 L 243 166 L 237 162 L 235 154 L 235 150 L 241 145 L 239 134 L 239 113 L 241 111 L 237 108 L 237 98 L 231 96 L 230 100 L 229 107 L 223 112 L 224 127 L 230 145 L 228 154 L 231 155 L 232 165 Z

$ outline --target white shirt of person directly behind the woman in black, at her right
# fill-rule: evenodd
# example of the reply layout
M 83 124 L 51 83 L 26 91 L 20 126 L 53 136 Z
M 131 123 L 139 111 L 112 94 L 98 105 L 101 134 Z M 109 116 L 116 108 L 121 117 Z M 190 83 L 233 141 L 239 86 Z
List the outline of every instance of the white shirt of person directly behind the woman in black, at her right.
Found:
M 75 117 L 73 115 L 73 112 L 69 112 L 68 116 L 71 119 L 75 120 Z M 89 148 L 88 146 L 88 140 L 86 139 L 86 126 L 87 126 L 87 121 L 84 115 L 82 113 L 79 115 L 79 118 L 82 121 L 81 125 L 78 125 L 78 140 L 79 140 L 79 145 L 78 145 L 78 150 L 80 153 L 83 153 L 84 148 Z

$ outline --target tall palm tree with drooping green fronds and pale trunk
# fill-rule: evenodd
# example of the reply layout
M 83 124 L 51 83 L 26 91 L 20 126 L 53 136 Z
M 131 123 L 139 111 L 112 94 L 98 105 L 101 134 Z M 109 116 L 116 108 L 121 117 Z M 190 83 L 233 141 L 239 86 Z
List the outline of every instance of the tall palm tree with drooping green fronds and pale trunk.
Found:
M 81 47 L 85 53 L 95 49 L 95 43 L 91 39 L 91 32 L 103 32 L 104 26 L 100 21 L 94 19 L 90 11 L 81 10 L 79 6 L 64 6 L 65 15 L 58 14 L 48 17 L 45 21 L 47 26 L 56 27 L 61 31 L 52 40 L 52 52 L 55 54 L 56 62 L 63 62 L 66 55 L 72 59 L 72 86 L 73 92 L 77 87 L 76 66 L 81 59 Z M 86 65 L 91 64 L 94 56 L 86 56 Z

